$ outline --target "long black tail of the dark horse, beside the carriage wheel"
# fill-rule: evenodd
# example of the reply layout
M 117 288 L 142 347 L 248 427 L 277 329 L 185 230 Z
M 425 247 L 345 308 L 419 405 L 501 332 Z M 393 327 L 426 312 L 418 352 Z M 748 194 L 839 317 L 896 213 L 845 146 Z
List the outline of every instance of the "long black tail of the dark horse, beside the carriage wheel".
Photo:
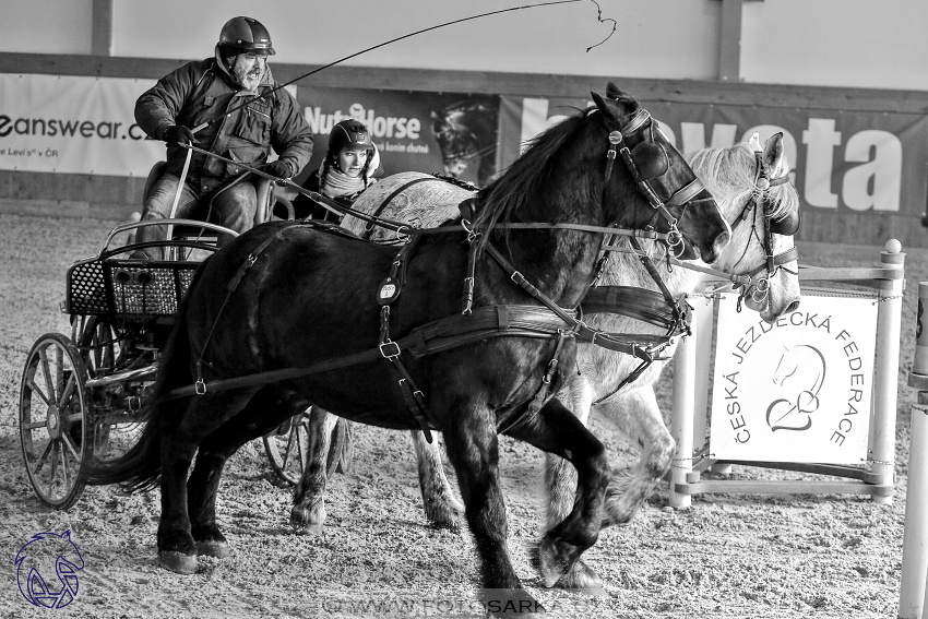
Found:
M 204 261 L 205 263 L 205 261 Z M 197 270 L 190 288 L 197 285 L 201 265 Z M 162 476 L 162 433 L 164 428 L 176 425 L 178 416 L 186 410 L 189 397 L 166 398 L 172 389 L 193 384 L 190 369 L 190 337 L 186 316 L 187 300 L 178 309 L 178 321 L 168 337 L 162 354 L 155 393 L 150 403 L 142 408 L 141 422 L 145 424 L 139 441 L 123 455 L 100 462 L 93 460 L 87 467 L 86 483 L 92 486 L 119 484 L 130 492 L 151 490 L 158 486 Z

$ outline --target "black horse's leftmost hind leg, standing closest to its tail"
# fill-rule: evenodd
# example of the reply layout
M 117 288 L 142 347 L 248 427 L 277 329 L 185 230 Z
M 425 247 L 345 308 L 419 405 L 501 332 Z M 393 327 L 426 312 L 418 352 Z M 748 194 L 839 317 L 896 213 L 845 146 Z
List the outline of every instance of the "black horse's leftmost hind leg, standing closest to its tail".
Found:
M 179 422 L 175 427 L 162 421 L 162 515 L 157 536 L 162 567 L 182 574 L 197 571 L 197 544 L 188 514 L 190 463 L 202 439 L 245 407 L 252 394 L 253 391 L 193 396 L 177 410 Z M 217 414 L 229 410 L 231 414 Z

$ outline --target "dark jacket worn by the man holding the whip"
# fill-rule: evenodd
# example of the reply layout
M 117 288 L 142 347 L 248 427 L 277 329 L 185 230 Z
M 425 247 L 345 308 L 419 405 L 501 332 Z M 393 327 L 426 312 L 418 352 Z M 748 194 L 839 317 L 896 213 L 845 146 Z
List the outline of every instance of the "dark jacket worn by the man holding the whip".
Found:
M 269 68 L 258 94 L 276 85 Z M 207 58 L 165 75 L 139 97 L 135 122 L 150 136 L 160 140 L 172 124 L 193 129 L 218 119 L 197 132 L 195 146 L 251 167 L 265 163 L 273 147 L 296 176 L 312 155 L 312 132 L 299 105 L 282 88 L 227 114 L 254 95 L 237 90 L 228 72 L 214 58 Z M 187 152 L 181 146 L 168 146 L 165 171 L 180 176 Z M 203 195 L 242 171 L 241 166 L 193 153 L 187 183 Z

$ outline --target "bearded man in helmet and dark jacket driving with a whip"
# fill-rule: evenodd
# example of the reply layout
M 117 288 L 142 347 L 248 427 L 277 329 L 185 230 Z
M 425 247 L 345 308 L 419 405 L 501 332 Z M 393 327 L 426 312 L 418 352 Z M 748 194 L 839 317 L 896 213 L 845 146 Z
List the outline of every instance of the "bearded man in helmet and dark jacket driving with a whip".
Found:
M 296 176 L 306 165 L 312 155 L 312 132 L 296 99 L 283 88 L 274 90 L 277 83 L 267 67 L 267 56 L 273 53 L 271 35 L 260 22 L 234 17 L 223 26 L 213 58 L 185 64 L 139 97 L 139 127 L 151 138 L 167 142 L 167 164 L 145 198 L 143 219 L 171 216 L 190 154 L 174 216 L 210 219 L 237 233 L 253 225 L 258 195 L 254 184 L 242 177 L 247 170 L 203 153 L 191 154 L 181 144 L 193 144 L 278 178 Z M 261 95 L 266 96 L 258 98 Z M 272 147 L 278 158 L 269 163 Z M 140 228 L 136 240 L 163 240 L 165 228 Z M 221 238 L 219 245 L 224 240 Z M 146 252 L 160 258 L 159 249 Z

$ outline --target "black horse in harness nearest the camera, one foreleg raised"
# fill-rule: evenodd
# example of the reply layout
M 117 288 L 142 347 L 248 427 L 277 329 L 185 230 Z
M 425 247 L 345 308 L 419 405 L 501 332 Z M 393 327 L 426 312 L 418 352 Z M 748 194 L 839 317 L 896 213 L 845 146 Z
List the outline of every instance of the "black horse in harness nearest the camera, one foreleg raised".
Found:
M 667 231 L 669 217 L 707 261 L 727 242 L 730 230 L 714 200 L 679 152 L 654 130 L 646 111 L 612 84 L 607 98 L 594 93 L 594 100 L 596 107 L 537 138 L 480 194 L 476 217 L 461 222 L 489 243 L 472 254 L 474 316 L 481 310 L 502 316 L 513 307 L 558 316 L 516 285 L 520 278 L 504 272 L 493 252 L 519 269 L 536 293 L 561 308 L 574 308 L 595 275 L 605 236 L 578 227 L 654 226 Z M 618 160 L 617 144 L 630 148 Z M 669 213 L 658 216 L 646 192 L 666 203 Z M 547 226 L 505 229 L 519 223 Z M 405 285 L 386 306 L 391 337 L 404 341 L 421 325 L 466 318 L 461 316 L 461 288 L 468 269 L 467 238 L 463 230 L 449 231 L 418 242 L 401 277 Z M 471 239 L 472 245 L 481 242 Z M 384 310 L 376 296 L 383 294 L 396 257 L 395 248 L 305 223 L 274 222 L 238 237 L 203 264 L 178 314 L 156 405 L 140 442 L 124 457 L 96 464 L 88 475 L 91 484 L 122 483 L 131 489 L 160 480 L 162 566 L 192 573 L 198 553 L 227 556 L 216 522 L 226 461 L 308 406 L 384 428 L 420 427 L 398 395 L 393 364 L 379 355 L 324 372 L 284 379 L 281 373 L 319 364 L 333 367 L 346 356 L 377 352 Z M 509 326 L 525 332 L 514 319 Z M 574 355 L 573 340 L 561 337 L 567 329 L 556 331 L 546 337 L 498 333 L 502 336 L 437 354 L 402 354 L 406 378 L 425 394 L 428 425 L 444 435 L 481 563 L 483 595 L 499 616 L 540 607 L 522 588 L 507 551 L 498 432 L 567 459 L 578 471 L 573 511 L 540 543 L 546 585 L 554 585 L 596 541 L 603 519 L 609 481 L 603 444 L 550 397 L 573 367 Z M 551 371 L 558 347 L 560 362 Z M 385 345 L 380 352 L 391 357 L 398 348 Z M 250 380 L 263 372 L 277 373 Z

